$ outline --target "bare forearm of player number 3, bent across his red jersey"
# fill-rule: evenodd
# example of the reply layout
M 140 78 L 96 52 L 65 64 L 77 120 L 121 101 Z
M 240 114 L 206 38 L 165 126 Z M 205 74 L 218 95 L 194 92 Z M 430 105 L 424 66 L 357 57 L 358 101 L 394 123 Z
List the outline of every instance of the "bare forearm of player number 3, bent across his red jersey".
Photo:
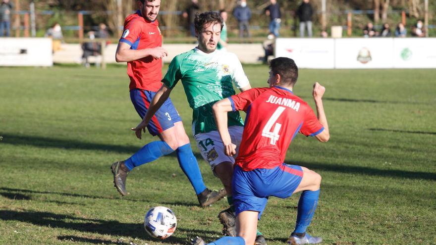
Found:
M 128 43 L 119 42 L 116 48 L 115 60 L 116 62 L 129 62 L 137 59 L 141 59 L 147 56 L 152 56 L 156 59 L 161 59 L 168 56 L 168 51 L 162 47 L 156 47 L 151 49 L 130 49 Z

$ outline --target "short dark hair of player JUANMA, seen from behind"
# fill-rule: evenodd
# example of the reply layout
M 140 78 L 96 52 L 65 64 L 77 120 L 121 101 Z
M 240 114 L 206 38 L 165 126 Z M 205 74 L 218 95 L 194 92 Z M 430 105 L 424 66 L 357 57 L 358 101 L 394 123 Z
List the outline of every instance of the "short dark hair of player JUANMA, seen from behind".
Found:
M 271 60 L 272 75 L 279 74 L 283 83 L 294 85 L 298 79 L 298 67 L 293 59 L 278 57 Z

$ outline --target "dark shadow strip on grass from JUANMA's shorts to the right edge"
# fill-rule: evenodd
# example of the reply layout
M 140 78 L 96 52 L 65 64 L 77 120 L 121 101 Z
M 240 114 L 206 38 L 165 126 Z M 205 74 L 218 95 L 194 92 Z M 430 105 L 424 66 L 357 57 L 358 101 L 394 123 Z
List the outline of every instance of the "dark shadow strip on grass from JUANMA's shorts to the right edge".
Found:
M 423 179 L 423 180 L 436 180 L 435 173 L 427 172 L 412 172 L 404 170 L 385 170 L 370 167 L 361 166 L 344 166 L 338 164 L 323 164 L 323 163 L 311 163 L 311 162 L 290 162 L 290 164 L 300 165 L 307 167 L 312 170 L 325 170 L 338 173 L 346 174 L 362 174 L 362 175 L 372 175 L 372 176 L 382 176 L 382 177 L 394 177 L 394 178 L 405 178 L 405 179 Z

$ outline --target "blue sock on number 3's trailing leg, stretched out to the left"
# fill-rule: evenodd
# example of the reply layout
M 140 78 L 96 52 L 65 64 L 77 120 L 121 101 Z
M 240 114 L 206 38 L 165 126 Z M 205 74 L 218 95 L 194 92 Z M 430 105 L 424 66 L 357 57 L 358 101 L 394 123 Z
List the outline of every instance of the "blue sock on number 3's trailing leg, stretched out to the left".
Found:
M 164 141 L 150 142 L 127 159 L 124 164 L 129 170 L 132 170 L 134 167 L 154 161 L 173 151 Z

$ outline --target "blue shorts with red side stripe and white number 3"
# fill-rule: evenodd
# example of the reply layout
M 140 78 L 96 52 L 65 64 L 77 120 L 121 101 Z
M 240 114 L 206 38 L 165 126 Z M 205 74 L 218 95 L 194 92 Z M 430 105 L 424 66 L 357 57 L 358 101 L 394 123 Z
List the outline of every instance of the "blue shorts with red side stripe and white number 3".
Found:
M 133 89 L 130 91 L 130 99 L 132 100 L 136 112 L 138 112 L 141 119 L 144 118 L 145 114 L 147 113 L 147 109 L 150 106 L 150 101 L 152 101 L 152 98 L 155 95 L 155 92 L 148 90 Z M 182 121 L 182 119 L 177 113 L 177 110 L 174 108 L 171 99 L 168 98 L 165 102 L 163 102 L 161 108 L 159 108 L 159 110 L 152 117 L 147 129 L 151 135 L 156 136 L 162 133 L 162 131 L 174 127 L 174 123 L 180 121 Z

